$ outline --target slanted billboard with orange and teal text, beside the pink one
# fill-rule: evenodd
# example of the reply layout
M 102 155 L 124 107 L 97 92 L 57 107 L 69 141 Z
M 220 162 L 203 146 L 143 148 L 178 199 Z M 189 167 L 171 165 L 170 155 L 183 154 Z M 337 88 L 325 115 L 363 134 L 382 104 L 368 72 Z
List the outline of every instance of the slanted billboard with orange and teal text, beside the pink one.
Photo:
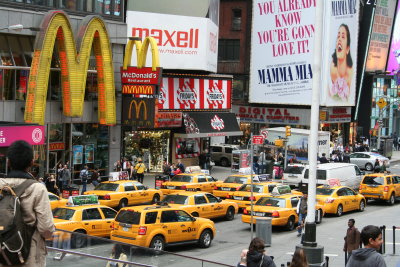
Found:
M 397 0 L 378 0 L 368 49 L 366 71 L 385 71 Z

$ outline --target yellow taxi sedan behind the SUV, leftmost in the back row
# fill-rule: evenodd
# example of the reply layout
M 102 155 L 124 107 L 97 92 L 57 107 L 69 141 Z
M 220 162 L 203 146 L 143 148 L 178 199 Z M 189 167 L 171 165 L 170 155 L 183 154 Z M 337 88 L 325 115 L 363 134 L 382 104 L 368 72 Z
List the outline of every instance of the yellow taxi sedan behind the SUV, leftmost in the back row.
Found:
M 97 195 L 101 205 L 118 209 L 132 205 L 156 203 L 163 196 L 160 190 L 149 189 L 147 186 L 131 180 L 102 182 L 84 194 Z

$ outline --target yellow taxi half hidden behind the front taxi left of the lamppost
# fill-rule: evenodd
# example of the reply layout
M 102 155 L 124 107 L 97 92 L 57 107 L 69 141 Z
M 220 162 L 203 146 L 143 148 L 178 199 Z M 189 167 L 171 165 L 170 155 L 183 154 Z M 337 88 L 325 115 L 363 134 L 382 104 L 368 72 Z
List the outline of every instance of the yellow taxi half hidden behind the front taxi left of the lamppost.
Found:
M 286 193 L 291 192 L 290 186 L 282 185 L 279 182 L 262 182 L 253 184 L 253 202 L 256 202 L 261 197 L 270 196 L 272 190 L 275 187 L 279 187 L 280 191 L 285 191 Z M 294 192 L 294 191 L 293 191 Z M 302 195 L 299 192 L 299 195 Z M 242 185 L 239 190 L 235 192 L 230 192 L 227 195 L 227 199 L 236 202 L 240 209 L 244 209 L 250 206 L 251 203 L 251 184 Z

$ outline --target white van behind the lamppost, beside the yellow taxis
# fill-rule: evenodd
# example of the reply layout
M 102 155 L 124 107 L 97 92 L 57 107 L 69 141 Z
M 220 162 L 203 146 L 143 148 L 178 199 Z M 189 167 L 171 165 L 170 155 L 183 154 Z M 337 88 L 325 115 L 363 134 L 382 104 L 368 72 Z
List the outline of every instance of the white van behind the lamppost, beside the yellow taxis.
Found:
M 308 184 L 308 165 L 301 183 Z M 329 179 L 339 179 L 341 185 L 358 190 L 364 172 L 352 163 L 325 163 L 317 166 L 317 185 L 328 184 Z

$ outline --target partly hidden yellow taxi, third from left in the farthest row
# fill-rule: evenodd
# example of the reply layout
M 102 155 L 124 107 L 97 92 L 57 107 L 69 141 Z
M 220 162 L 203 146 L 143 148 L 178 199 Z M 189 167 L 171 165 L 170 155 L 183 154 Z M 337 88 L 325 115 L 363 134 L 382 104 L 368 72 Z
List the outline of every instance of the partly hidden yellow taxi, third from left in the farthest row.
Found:
M 258 176 L 253 175 L 253 182 L 259 182 Z M 250 174 L 234 174 L 228 176 L 222 183 L 215 186 L 213 195 L 220 198 L 226 198 L 228 192 L 237 191 L 243 184 L 251 183 Z

